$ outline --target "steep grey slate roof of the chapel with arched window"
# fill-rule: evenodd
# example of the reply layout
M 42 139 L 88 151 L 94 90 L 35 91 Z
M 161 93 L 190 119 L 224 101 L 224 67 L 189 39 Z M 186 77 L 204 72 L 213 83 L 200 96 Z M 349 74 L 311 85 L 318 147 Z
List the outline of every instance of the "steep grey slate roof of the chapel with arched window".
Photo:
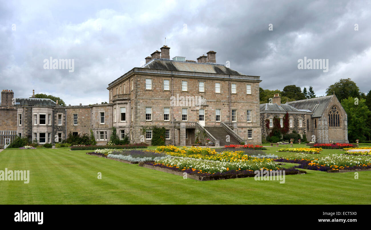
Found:
M 310 98 L 299 101 L 286 102 L 286 105 L 293 106 L 297 109 L 309 109 L 313 112 L 312 117 L 320 117 L 325 109 L 328 107 L 329 102 L 334 95 L 323 96 L 319 98 Z

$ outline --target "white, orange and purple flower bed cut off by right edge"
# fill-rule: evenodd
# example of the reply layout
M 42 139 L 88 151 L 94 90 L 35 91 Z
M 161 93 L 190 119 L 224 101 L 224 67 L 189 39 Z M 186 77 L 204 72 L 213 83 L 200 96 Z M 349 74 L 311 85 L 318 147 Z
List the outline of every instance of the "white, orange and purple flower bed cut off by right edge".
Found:
M 355 157 L 332 154 L 326 157 L 316 158 L 309 155 L 296 155 L 293 158 L 276 159 L 278 162 L 289 162 L 300 164 L 295 168 L 303 168 L 319 171 L 339 171 L 371 168 L 371 158 Z

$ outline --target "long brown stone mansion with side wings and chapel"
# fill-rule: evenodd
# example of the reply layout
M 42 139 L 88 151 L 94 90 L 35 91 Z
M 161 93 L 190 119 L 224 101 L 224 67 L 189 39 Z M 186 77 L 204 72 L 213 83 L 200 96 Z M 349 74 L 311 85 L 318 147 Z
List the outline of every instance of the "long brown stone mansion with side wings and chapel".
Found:
M 89 134 L 97 144 L 109 141 L 112 127 L 131 143 L 151 144 L 152 129 L 165 128 L 165 144 L 191 145 L 198 133 L 216 146 L 261 144 L 265 119 L 290 114 L 290 131 L 308 140 L 347 142 L 347 114 L 335 95 L 281 105 L 259 103 L 259 76 L 216 63 L 216 52 L 194 60 L 175 56 L 162 46 L 108 84 L 109 103 L 61 106 L 50 99 L 14 98 L 3 90 L 0 104 L 0 145 L 15 136 L 39 144 L 60 142 L 71 132 Z M 34 93 L 33 93 L 34 95 Z M 279 102 L 278 102 L 279 101 Z M 292 126 L 291 126 L 292 125 Z

